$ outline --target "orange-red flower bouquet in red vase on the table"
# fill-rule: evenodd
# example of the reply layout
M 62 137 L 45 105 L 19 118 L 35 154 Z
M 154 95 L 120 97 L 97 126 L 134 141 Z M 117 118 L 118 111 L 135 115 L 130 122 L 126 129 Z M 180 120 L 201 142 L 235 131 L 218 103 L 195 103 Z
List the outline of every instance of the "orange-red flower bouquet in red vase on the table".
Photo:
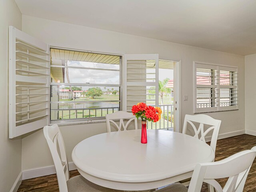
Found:
M 136 116 L 137 119 L 141 118 L 142 128 L 141 128 L 141 143 L 146 144 L 147 132 L 146 123 L 147 121 L 158 122 L 161 118 L 162 110 L 159 107 L 147 106 L 146 103 L 138 103 L 132 106 L 132 114 Z

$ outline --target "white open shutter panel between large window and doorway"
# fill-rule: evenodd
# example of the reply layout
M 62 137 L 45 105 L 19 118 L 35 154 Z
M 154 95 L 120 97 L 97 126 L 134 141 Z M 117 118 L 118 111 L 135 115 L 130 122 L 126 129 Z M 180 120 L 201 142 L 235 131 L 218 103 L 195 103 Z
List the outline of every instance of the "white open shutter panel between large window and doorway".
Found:
M 158 54 L 124 56 L 124 111 L 138 102 L 158 106 Z

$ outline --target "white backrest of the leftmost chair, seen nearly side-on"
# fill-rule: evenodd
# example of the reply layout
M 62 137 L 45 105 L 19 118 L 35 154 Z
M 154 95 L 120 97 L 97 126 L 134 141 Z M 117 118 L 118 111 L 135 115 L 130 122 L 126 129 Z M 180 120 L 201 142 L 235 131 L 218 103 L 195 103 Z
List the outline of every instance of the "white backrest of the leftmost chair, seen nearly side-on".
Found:
M 52 159 L 56 168 L 60 192 L 68 192 L 67 180 L 69 179 L 66 149 L 60 129 L 57 124 L 44 126 L 44 137 L 50 148 Z

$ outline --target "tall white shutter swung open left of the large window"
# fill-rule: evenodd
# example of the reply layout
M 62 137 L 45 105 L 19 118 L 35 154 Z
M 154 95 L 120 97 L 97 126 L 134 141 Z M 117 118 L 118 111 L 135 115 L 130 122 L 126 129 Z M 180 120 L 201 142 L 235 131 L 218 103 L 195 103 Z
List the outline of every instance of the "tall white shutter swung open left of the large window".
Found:
M 50 122 L 48 45 L 9 26 L 9 138 Z

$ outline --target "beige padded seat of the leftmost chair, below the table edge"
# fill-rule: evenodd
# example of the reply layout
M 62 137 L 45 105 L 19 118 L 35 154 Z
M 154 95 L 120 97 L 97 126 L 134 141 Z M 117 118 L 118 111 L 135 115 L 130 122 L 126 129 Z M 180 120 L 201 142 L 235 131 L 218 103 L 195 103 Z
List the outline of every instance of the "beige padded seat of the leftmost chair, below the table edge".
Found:
M 68 192 L 124 192 L 96 185 L 81 175 L 67 181 Z

